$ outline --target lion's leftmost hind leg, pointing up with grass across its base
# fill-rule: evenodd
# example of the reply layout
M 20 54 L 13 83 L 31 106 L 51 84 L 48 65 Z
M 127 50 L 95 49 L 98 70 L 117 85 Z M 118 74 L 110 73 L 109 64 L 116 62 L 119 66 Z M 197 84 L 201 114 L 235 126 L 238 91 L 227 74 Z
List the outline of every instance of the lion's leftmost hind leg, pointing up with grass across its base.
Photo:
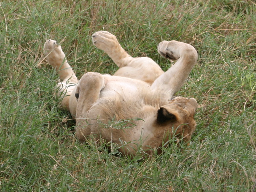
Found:
M 78 82 L 73 69 L 68 64 L 61 46 L 54 40 L 46 40 L 44 44 L 44 55 L 52 68 L 55 68 L 60 76 L 57 85 L 57 96 L 62 97 L 61 106 L 69 111 L 69 99 Z

